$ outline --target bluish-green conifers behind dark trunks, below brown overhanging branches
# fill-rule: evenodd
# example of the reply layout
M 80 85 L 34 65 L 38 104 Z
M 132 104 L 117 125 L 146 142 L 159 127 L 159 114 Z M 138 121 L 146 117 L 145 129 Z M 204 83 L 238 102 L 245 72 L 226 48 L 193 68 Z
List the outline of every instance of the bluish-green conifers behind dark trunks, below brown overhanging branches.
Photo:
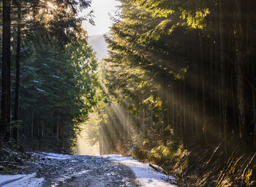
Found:
M 41 40 L 40 45 L 37 42 L 30 36 L 23 38 L 20 137 L 22 141 L 29 137 L 40 140 L 35 147 L 46 142 L 57 150 L 62 141 L 58 131 L 61 121 L 64 149 L 71 151 L 80 123 L 86 121 L 99 97 L 97 59 L 86 39 L 78 38 L 77 45 L 63 47 L 54 38 L 51 42 Z

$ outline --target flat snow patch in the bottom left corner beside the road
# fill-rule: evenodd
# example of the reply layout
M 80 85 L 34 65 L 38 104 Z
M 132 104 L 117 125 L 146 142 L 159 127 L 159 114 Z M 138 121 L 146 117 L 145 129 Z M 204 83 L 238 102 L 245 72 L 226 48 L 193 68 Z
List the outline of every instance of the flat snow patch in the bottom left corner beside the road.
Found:
M 36 173 L 30 175 L 0 175 L 0 186 L 4 187 L 34 187 L 42 186 L 44 178 L 36 178 Z

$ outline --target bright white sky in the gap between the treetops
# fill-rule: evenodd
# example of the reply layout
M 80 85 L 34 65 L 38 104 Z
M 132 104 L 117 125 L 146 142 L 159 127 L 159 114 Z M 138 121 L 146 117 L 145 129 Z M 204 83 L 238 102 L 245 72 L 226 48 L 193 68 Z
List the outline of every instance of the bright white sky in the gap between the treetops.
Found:
M 116 5 L 120 4 L 116 0 L 91 0 L 91 8 L 94 10 L 94 22 L 95 26 L 92 26 L 88 22 L 83 23 L 83 27 L 88 31 L 89 36 L 97 34 L 105 34 L 110 30 L 111 20 L 108 15 L 115 14 Z M 87 10 L 88 12 L 89 10 Z

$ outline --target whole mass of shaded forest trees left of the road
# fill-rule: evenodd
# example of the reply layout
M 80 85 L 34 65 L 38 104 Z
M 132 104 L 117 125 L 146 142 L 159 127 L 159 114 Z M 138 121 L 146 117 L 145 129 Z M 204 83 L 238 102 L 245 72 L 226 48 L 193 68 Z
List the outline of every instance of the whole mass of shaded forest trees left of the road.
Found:
M 55 151 L 59 147 L 70 152 L 80 123 L 86 121 L 98 97 L 97 59 L 82 28 L 83 20 L 91 23 L 93 20 L 91 13 L 82 18 L 78 15 L 91 1 L 15 0 L 8 3 L 12 24 L 11 39 L 7 42 L 11 44 L 12 61 L 18 56 L 20 60 L 11 66 L 10 72 L 1 69 L 11 77 L 11 87 L 17 88 L 15 97 L 12 94 L 9 99 L 15 108 L 12 110 L 15 121 L 8 124 L 7 129 L 15 139 L 20 138 L 20 144 L 32 144 L 34 140 L 34 147 L 51 144 Z M 21 50 L 18 50 L 20 39 Z M 15 77 L 18 66 L 20 75 Z M 18 120 L 17 113 L 20 114 Z M 1 111 L 3 114 L 10 115 Z M 1 129 L 2 134 L 5 131 Z

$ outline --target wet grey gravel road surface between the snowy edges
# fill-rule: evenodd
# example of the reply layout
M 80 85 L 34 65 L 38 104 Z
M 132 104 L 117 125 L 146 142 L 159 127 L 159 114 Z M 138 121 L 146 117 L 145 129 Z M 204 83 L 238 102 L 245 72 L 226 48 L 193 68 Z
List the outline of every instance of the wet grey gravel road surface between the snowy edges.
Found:
M 40 159 L 27 164 L 26 172 L 37 172 L 49 186 L 140 186 L 129 167 L 100 156 L 69 156 L 69 159 Z

